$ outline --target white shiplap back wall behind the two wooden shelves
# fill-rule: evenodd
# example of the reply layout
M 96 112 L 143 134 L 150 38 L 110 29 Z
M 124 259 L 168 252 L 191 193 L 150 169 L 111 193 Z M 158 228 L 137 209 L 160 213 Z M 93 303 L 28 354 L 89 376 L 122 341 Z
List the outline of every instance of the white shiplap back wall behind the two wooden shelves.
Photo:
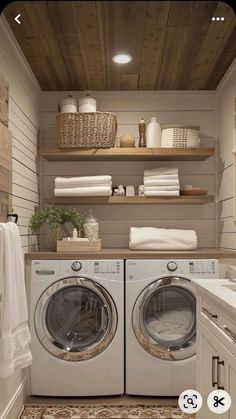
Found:
M 70 92 L 68 92 L 70 93 Z M 57 105 L 67 92 L 42 92 L 41 147 L 56 147 Z M 78 98 L 82 92 L 73 92 Z M 152 116 L 162 124 L 200 126 L 202 146 L 215 145 L 215 93 L 214 92 L 92 92 L 100 111 L 115 112 L 118 118 L 118 137 L 130 132 L 138 139 L 138 123 Z M 215 158 L 204 162 L 47 162 L 41 163 L 41 196 L 53 194 L 56 176 L 82 176 L 111 174 L 113 185 L 139 185 L 143 183 L 145 168 L 157 166 L 179 168 L 181 185 L 194 184 L 207 187 L 214 194 Z M 87 211 L 89 206 L 79 207 Z M 194 228 L 199 247 L 216 246 L 215 204 L 191 206 L 93 206 L 100 222 L 104 247 L 128 247 L 130 226 L 156 226 L 162 228 Z M 42 241 L 42 247 L 46 245 Z

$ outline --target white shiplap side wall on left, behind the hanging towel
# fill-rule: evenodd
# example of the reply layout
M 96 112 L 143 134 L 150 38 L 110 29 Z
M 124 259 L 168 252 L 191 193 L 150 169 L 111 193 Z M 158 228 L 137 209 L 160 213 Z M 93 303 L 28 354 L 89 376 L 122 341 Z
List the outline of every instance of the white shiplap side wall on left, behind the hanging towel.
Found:
M 9 129 L 13 136 L 13 210 L 19 215 L 24 252 L 35 249 L 28 221 L 39 203 L 37 138 L 40 87 L 3 16 L 0 18 L 0 73 L 9 83 Z M 0 417 L 16 418 L 24 402 L 26 370 L 0 379 Z

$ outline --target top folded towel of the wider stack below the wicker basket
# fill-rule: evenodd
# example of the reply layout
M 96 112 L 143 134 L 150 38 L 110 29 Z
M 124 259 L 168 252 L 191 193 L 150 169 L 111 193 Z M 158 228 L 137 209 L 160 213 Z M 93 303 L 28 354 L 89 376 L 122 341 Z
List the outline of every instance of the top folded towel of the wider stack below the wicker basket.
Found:
M 73 188 L 79 186 L 107 185 L 111 184 L 111 176 L 78 176 L 78 177 L 56 177 L 55 188 Z

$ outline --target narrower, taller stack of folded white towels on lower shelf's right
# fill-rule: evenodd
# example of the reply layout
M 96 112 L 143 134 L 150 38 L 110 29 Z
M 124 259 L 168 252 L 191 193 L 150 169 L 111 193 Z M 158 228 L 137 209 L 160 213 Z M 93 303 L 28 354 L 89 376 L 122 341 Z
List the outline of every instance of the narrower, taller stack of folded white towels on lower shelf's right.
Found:
M 145 196 L 179 196 L 177 167 L 158 167 L 144 171 Z

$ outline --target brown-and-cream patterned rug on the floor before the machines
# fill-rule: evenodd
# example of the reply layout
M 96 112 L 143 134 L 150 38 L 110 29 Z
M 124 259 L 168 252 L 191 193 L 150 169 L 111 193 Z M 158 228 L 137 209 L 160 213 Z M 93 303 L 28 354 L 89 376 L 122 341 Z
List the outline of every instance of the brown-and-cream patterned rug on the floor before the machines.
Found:
M 80 405 L 80 406 L 26 406 L 21 419 L 185 419 L 176 406 L 168 405 Z

